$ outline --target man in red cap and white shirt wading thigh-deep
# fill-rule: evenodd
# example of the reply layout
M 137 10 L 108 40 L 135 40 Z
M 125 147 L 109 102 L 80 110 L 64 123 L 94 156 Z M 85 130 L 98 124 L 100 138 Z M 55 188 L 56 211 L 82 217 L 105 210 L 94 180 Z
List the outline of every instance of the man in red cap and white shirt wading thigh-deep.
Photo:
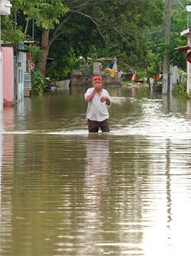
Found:
M 111 104 L 111 99 L 108 91 L 102 88 L 102 76 L 94 76 L 92 83 L 93 87 L 85 93 L 88 102 L 86 119 L 89 132 L 98 132 L 99 127 L 103 132 L 108 132 L 108 105 Z

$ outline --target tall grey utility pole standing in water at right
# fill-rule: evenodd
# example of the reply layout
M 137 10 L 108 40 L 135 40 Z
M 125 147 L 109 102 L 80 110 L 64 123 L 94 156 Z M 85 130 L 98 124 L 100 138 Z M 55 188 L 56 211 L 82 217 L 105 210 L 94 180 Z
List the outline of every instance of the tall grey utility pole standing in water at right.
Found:
M 169 47 L 170 47 L 170 25 L 171 25 L 171 0 L 165 1 L 165 49 L 163 56 L 163 89 L 162 93 L 167 94 L 170 91 L 170 63 L 169 63 Z

